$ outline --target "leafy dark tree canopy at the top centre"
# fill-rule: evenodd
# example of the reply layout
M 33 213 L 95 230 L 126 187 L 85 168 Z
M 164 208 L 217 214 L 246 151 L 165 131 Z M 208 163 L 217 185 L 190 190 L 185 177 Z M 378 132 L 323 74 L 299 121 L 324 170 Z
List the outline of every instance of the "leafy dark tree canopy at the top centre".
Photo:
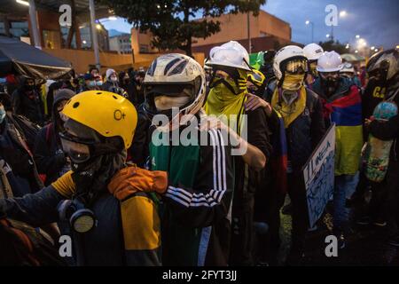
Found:
M 180 49 L 192 56 L 192 38 L 207 38 L 220 31 L 212 19 L 225 12 L 258 15 L 266 0 L 100 0 L 140 31 L 153 33 L 153 46 Z M 200 19 L 201 18 L 201 19 Z M 200 19 L 200 20 L 195 20 Z

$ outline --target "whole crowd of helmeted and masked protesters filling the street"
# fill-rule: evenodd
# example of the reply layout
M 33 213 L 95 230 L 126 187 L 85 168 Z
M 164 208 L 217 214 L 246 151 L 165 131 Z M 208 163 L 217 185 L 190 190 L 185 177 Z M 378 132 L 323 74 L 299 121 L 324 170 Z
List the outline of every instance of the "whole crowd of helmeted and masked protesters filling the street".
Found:
M 0 264 L 277 265 L 281 211 L 292 216 L 286 264 L 305 264 L 323 224 L 309 225 L 302 169 L 332 124 L 339 248 L 357 223 L 387 227 L 399 249 L 398 51 L 363 70 L 316 43 L 263 57 L 256 70 L 231 41 L 205 70 L 169 53 L 119 74 L 7 76 Z M 175 143 L 187 132 L 194 143 Z M 72 256 L 59 255 L 61 235 Z

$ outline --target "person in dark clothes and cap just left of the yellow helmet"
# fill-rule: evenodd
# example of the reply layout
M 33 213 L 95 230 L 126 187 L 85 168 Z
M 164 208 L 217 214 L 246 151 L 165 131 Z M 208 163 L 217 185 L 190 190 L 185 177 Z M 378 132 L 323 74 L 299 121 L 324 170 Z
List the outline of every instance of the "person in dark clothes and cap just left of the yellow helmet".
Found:
M 74 95 L 74 91 L 69 89 L 62 89 L 56 93 L 51 108 L 51 122 L 40 130 L 35 139 L 34 159 L 44 185 L 51 185 L 71 170 L 70 161 L 62 150 L 59 132 L 64 130 L 64 122 L 67 119 L 61 111 Z

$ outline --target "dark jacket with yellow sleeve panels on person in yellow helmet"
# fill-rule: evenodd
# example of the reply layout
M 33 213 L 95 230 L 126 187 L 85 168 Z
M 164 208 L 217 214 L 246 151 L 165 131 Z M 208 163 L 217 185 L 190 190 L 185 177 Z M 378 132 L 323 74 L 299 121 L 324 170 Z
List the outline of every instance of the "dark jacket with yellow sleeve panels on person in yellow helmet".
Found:
M 0 200 L 8 217 L 41 226 L 59 221 L 59 202 L 75 194 L 72 172 L 40 192 L 23 198 Z M 118 200 L 102 190 L 89 209 L 98 220 L 88 233 L 72 234 L 78 265 L 160 265 L 159 248 L 148 243 L 159 239 L 159 218 L 148 193 L 130 194 Z M 122 218 L 126 217 L 126 222 Z M 138 224 L 138 225 L 137 225 Z M 124 234 L 125 233 L 125 234 Z M 76 254 L 75 252 L 79 252 Z

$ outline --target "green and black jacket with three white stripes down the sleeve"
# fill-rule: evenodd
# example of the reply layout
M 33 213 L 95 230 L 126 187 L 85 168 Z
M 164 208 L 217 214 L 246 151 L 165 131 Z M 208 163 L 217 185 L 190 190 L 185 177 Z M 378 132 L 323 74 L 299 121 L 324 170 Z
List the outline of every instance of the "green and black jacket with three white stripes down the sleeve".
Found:
M 168 171 L 162 217 L 164 265 L 228 264 L 231 147 L 223 143 L 220 130 L 206 134 L 207 146 L 155 146 L 155 139 L 150 145 L 152 170 Z

